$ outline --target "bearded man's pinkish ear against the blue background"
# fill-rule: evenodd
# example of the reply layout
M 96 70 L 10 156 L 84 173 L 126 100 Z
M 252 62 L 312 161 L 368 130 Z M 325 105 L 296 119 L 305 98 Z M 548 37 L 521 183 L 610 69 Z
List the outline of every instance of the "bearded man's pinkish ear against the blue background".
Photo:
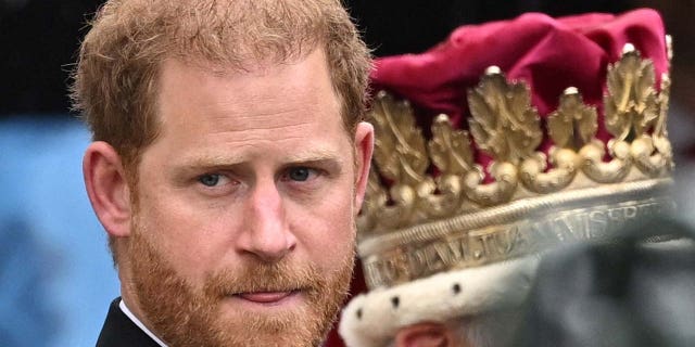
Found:
M 97 218 L 110 236 L 130 234 L 130 189 L 118 153 L 106 142 L 92 142 L 83 160 L 85 185 Z

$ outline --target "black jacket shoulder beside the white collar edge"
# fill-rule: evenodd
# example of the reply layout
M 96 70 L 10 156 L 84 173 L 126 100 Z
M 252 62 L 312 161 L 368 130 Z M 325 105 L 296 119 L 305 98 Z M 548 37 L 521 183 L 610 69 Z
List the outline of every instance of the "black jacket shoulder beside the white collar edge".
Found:
M 119 297 L 111 303 L 97 347 L 160 347 L 121 310 L 118 303 Z

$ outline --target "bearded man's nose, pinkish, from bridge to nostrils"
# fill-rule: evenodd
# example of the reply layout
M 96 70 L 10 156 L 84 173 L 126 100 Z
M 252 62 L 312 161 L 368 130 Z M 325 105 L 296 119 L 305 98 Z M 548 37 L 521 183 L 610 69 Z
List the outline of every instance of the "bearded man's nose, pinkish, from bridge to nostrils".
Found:
M 282 196 L 275 181 L 256 182 L 247 201 L 242 252 L 262 261 L 274 262 L 294 249 L 296 239 L 289 228 Z

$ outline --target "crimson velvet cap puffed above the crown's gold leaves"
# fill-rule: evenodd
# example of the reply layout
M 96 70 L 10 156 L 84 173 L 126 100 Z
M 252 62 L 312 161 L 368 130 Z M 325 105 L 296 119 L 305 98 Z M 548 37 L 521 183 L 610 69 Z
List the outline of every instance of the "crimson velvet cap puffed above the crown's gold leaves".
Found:
M 421 54 L 379 59 L 370 77 L 372 90 L 407 99 L 422 129 L 442 113 L 454 128 L 467 128 L 467 90 L 476 87 L 485 68 L 496 65 L 508 80 L 529 86 L 531 103 L 542 119 L 557 108 L 566 88 L 578 88 L 584 103 L 597 107 L 596 138 L 606 141 L 610 134 L 604 127 L 603 95 L 608 64 L 619 61 L 624 44 L 632 43 L 642 57 L 653 61 L 659 86 L 669 65 L 665 37 L 661 17 L 649 9 L 560 18 L 528 13 L 459 27 Z M 545 131 L 540 151 L 547 152 L 551 145 Z M 486 166 L 490 157 L 477 153 L 477 162 Z

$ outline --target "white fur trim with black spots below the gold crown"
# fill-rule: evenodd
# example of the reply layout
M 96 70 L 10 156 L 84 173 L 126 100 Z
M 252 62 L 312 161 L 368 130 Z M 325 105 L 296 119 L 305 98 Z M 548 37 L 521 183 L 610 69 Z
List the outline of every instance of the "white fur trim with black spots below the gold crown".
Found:
M 404 326 L 444 322 L 520 305 L 535 273 L 536 256 L 439 273 L 353 298 L 340 335 L 349 347 L 381 347 Z

